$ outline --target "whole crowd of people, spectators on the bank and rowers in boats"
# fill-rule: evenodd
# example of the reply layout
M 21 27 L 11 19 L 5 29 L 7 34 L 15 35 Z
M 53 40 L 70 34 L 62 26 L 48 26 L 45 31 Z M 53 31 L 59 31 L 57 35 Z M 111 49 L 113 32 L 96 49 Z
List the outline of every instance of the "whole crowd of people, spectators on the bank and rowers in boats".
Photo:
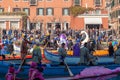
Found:
M 89 32 L 89 31 L 88 31 Z M 42 54 L 40 46 L 47 45 L 47 49 L 56 49 L 58 54 L 61 56 L 61 63 L 64 64 L 64 59 L 68 55 L 67 51 L 72 50 L 73 56 L 80 57 L 80 65 L 96 65 L 97 57 L 93 56 L 93 52 L 98 49 L 98 44 L 101 40 L 104 40 L 106 33 L 91 32 L 89 35 L 89 40 L 82 44 L 86 35 L 80 34 L 80 31 L 74 31 L 69 29 L 67 31 L 56 30 L 52 33 L 43 34 L 40 30 L 31 31 L 19 31 L 19 30 L 3 30 L 1 35 L 0 54 L 5 59 L 5 54 L 10 54 L 15 56 L 14 44 L 20 46 L 21 60 L 25 63 L 25 56 L 28 54 L 28 49 L 32 49 L 32 60 L 31 68 L 29 70 L 29 80 L 44 80 L 42 76 L 43 68 L 39 69 L 38 64 L 42 64 Z M 92 35 L 93 33 L 93 35 Z M 95 34 L 94 34 L 95 33 Z M 17 43 L 16 43 L 17 42 Z M 118 44 L 118 43 L 117 43 Z M 117 51 L 114 50 L 112 43 L 108 46 L 109 56 L 113 56 L 114 53 L 116 57 L 116 63 L 120 63 L 120 48 Z M 12 71 L 11 71 L 12 70 Z M 8 75 L 11 76 L 11 80 L 14 78 L 14 74 L 20 71 L 18 69 L 15 71 L 13 66 L 10 66 Z M 10 74 L 9 74 L 10 73 Z M 35 77 L 36 76 L 36 77 Z M 9 80 L 9 79 L 7 79 Z

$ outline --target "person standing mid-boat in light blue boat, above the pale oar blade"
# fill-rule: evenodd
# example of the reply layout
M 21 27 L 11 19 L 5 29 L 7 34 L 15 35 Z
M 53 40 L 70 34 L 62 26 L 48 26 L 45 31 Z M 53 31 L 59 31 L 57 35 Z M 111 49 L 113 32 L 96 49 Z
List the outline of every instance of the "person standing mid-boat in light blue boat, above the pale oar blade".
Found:
M 58 50 L 58 54 L 61 56 L 60 57 L 60 62 L 61 62 L 60 64 L 64 64 L 64 59 L 67 56 L 67 52 L 65 50 L 65 43 L 61 44 L 61 47 Z

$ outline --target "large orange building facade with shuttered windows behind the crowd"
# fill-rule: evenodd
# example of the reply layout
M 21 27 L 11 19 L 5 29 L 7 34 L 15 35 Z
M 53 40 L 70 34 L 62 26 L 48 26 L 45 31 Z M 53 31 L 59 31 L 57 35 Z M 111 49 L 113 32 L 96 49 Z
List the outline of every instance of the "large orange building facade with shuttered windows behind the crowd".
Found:
M 73 17 L 69 9 L 71 6 L 94 10 Z M 107 29 L 108 12 L 105 6 L 105 0 L 0 0 L 0 13 L 25 12 L 28 15 L 25 29 L 29 30 Z M 0 15 L 0 27 L 23 29 L 22 16 Z

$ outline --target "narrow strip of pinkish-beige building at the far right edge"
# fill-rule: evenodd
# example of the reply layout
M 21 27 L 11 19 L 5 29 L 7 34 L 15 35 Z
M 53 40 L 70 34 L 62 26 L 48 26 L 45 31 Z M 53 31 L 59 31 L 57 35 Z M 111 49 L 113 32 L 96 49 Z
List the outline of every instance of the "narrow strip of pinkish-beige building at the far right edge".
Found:
M 120 33 L 120 0 L 110 0 L 110 23 L 111 28 L 115 30 L 116 34 Z

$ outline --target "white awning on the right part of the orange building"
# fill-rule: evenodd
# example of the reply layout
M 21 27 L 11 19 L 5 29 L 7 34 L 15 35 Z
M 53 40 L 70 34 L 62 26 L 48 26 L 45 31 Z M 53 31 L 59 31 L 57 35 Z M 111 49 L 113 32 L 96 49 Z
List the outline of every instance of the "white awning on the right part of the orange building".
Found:
M 102 24 L 101 18 L 85 18 L 85 24 Z

